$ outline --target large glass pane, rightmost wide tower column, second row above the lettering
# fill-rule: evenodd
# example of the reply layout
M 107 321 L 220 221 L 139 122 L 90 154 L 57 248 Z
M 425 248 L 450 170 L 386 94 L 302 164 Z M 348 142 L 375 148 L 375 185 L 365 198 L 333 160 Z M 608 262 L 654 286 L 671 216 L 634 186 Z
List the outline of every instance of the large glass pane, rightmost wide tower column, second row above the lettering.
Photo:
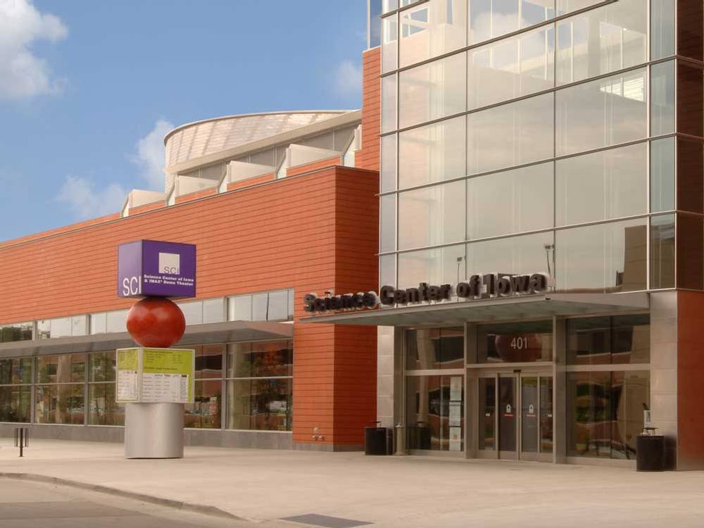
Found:
M 647 143 L 556 161 L 557 225 L 647 213 L 647 179 Z

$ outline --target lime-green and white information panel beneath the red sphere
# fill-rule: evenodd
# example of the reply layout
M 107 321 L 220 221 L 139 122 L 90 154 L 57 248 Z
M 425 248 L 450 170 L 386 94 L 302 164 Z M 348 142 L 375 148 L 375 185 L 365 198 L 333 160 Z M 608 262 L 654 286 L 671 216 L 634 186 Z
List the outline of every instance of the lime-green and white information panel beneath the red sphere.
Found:
M 195 351 L 119 348 L 118 403 L 194 403 Z

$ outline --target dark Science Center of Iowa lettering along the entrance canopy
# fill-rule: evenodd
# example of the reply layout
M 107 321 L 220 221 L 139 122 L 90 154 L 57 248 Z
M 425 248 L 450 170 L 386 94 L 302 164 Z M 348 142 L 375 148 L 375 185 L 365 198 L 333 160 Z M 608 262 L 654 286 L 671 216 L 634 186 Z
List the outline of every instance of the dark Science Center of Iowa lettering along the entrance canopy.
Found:
M 361 310 L 384 306 L 406 305 L 409 303 L 438 302 L 452 298 L 495 298 L 515 295 L 542 294 L 548 289 L 548 275 L 472 275 L 467 282 L 460 282 L 454 288 L 451 284 L 440 286 L 421 282 L 417 288 L 396 289 L 383 286 L 379 295 L 374 291 L 360 292 L 329 297 L 307 294 L 303 298 L 306 312 L 321 313 L 333 310 Z

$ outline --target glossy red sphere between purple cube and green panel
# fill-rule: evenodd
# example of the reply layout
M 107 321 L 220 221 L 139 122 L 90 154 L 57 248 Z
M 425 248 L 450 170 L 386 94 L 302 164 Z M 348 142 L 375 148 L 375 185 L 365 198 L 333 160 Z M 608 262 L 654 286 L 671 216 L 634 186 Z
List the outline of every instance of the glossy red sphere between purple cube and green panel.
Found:
M 186 318 L 181 308 L 163 297 L 145 297 L 127 313 L 127 332 L 140 346 L 168 348 L 181 339 Z

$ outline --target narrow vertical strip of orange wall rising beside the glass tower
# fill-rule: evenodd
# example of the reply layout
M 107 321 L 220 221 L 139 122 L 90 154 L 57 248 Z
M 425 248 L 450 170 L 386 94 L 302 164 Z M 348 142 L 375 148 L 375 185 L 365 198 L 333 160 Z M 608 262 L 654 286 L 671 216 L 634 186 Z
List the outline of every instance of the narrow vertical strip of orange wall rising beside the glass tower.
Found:
M 362 149 L 356 153 L 359 168 L 379 170 L 379 130 L 382 115 L 381 48 L 364 52 L 362 56 Z

